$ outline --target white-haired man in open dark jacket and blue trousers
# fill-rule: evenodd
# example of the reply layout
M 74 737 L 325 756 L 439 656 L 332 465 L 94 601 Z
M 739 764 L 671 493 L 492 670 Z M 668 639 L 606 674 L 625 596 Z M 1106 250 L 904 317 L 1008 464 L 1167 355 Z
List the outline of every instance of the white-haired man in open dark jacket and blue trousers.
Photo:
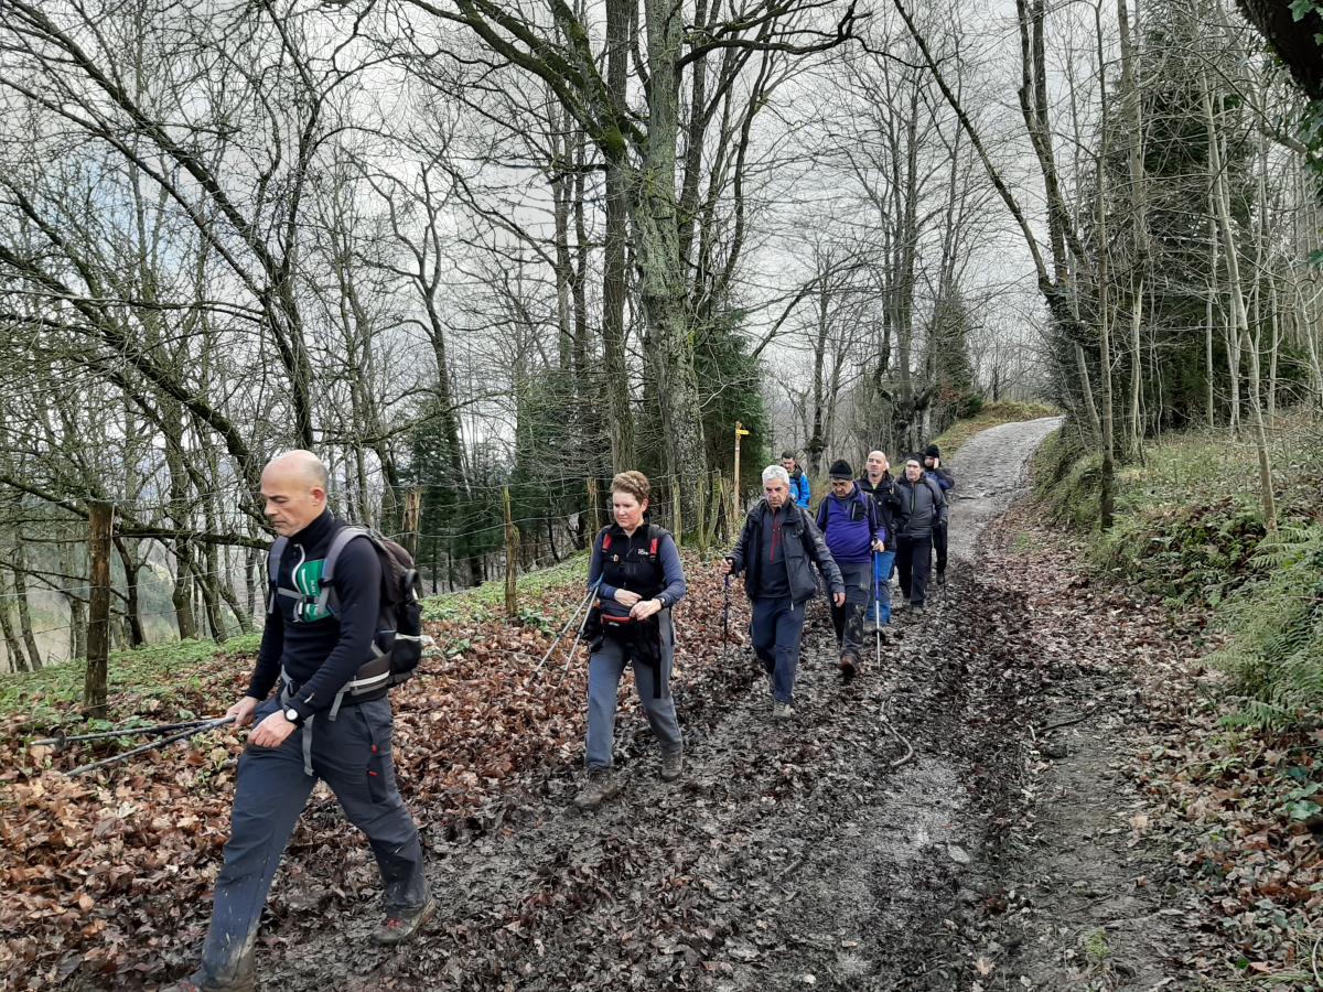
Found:
M 804 630 L 804 607 L 818 593 L 814 567 L 836 606 L 845 602 L 840 569 L 832 561 L 812 517 L 790 499 L 790 474 L 782 466 L 762 471 L 763 497 L 749 511 L 725 573 L 745 575 L 753 607 L 753 648 L 771 676 L 771 716 L 794 716 L 795 671 Z

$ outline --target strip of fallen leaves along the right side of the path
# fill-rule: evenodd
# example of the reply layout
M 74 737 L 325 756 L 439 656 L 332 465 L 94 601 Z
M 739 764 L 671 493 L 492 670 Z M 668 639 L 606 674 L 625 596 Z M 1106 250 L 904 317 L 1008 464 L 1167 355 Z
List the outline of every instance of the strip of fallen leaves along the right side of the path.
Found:
M 1032 526 L 1032 511 L 1008 524 Z M 1229 729 L 1228 684 L 1201 659 L 1217 645 L 1211 616 L 1172 615 L 1085 569 L 1084 546 L 1060 533 L 1003 559 L 1027 593 L 1040 652 L 1035 667 L 1074 657 L 1123 673 L 1129 767 L 1148 808 L 1118 825 L 1127 845 L 1170 852 L 1170 876 L 1197 894 L 1199 934 L 1189 973 L 1226 987 L 1237 973 L 1311 984 L 1323 926 L 1323 731 L 1274 737 Z M 1023 677 L 1025 669 L 1021 668 Z M 1089 704 L 1081 704 L 1081 714 Z M 1297 985 L 1298 987 L 1298 985 Z

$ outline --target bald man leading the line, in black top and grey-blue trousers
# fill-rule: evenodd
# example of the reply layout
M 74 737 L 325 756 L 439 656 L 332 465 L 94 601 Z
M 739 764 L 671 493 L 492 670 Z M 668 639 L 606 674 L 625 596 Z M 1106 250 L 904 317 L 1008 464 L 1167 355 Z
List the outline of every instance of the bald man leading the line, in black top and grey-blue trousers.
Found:
M 360 672 L 389 649 L 378 644 L 382 562 L 374 541 L 341 534 L 347 525 L 327 508 L 327 484 L 310 451 L 280 455 L 262 472 L 265 513 L 283 540 L 273 546 L 257 667 L 226 714 L 254 729 L 239 758 L 202 964 L 181 992 L 255 987 L 262 906 L 318 779 L 368 836 L 381 869 L 385 921 L 373 940 L 400 943 L 437 910 L 418 828 L 396 787 L 389 679 Z M 337 544 L 337 536 L 348 540 Z

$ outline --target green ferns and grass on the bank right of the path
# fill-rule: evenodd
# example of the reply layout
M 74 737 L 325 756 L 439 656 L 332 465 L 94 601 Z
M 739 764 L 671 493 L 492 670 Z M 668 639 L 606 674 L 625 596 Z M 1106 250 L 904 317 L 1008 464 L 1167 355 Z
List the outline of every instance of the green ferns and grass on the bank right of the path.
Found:
M 1278 529 L 1259 501 L 1254 450 L 1195 431 L 1150 443 L 1142 464 L 1118 464 L 1113 526 L 1098 529 L 1101 458 L 1058 431 L 1035 456 L 1040 505 L 1091 533 L 1095 574 L 1213 610 L 1226 635 L 1209 660 L 1230 676 L 1226 722 L 1315 729 L 1323 713 L 1323 507 L 1319 439 L 1310 422 L 1273 442 Z

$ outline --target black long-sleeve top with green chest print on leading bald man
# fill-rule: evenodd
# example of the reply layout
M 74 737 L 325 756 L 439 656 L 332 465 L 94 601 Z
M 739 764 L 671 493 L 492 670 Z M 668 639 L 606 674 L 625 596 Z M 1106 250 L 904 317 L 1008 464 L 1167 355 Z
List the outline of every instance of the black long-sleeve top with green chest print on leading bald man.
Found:
M 331 511 L 325 511 L 303 530 L 291 534 L 277 586 L 315 598 L 325 553 L 343 526 Z M 344 546 L 332 585 L 336 593 L 333 615 L 314 614 L 298 620 L 299 599 L 275 597 L 277 612 L 266 618 L 249 696 L 265 700 L 283 668 L 299 685 L 290 705 L 302 717 L 314 716 L 329 709 L 336 693 L 372 657 L 381 608 L 381 562 L 369 541 L 356 538 Z

